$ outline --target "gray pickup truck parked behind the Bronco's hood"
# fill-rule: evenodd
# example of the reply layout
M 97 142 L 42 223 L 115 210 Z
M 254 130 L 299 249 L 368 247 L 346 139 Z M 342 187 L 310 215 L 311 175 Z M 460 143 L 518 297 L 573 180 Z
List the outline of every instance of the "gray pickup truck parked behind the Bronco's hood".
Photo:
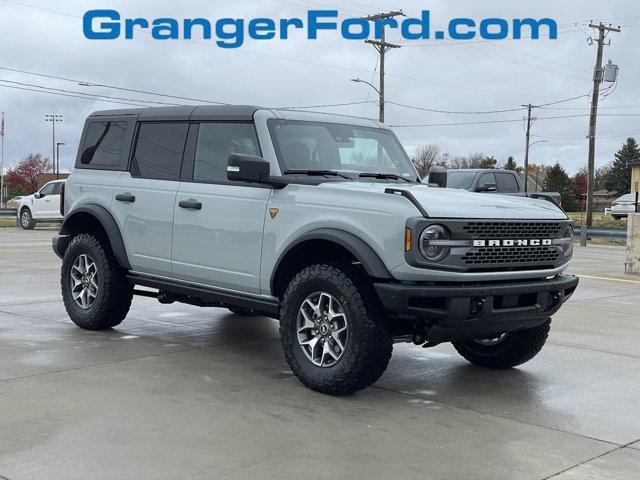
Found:
M 498 193 L 518 197 L 540 198 L 560 205 L 557 192 L 525 193 L 520 177 L 512 170 L 497 168 L 456 169 L 447 172 L 447 187 L 460 188 L 470 192 Z

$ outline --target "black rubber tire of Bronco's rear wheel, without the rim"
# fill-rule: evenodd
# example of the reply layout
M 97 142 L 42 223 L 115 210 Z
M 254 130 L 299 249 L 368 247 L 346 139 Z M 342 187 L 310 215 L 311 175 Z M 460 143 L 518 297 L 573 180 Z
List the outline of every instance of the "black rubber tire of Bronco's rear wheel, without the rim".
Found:
M 87 254 L 93 259 L 98 272 L 98 293 L 87 309 L 77 305 L 71 294 L 71 267 L 81 254 Z M 81 233 L 71 240 L 62 260 L 60 283 L 67 313 L 81 328 L 112 328 L 120 324 L 129 312 L 133 286 L 127 281 L 125 270 L 118 265 L 109 241 L 100 235 Z

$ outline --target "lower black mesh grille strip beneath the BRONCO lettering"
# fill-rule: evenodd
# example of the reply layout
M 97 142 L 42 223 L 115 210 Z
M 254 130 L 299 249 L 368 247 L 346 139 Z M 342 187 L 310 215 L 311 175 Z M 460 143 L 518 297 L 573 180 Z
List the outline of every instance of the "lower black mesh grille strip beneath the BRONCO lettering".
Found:
M 558 260 L 559 251 L 550 246 L 480 247 L 462 256 L 467 265 L 549 264 Z

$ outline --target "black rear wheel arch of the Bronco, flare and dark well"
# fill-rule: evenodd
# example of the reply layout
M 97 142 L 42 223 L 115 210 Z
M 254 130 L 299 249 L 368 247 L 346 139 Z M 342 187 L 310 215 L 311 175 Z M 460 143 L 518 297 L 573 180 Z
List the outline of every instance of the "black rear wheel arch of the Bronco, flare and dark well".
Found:
M 59 243 L 59 254 L 64 255 L 67 246 L 75 235 L 96 230 L 102 231 L 109 239 L 111 250 L 118 265 L 130 270 L 131 265 L 127 258 L 127 251 L 120 228 L 109 211 L 100 205 L 82 205 L 75 208 L 65 217 L 60 227 L 60 235 L 62 238 L 67 238 L 67 241 Z

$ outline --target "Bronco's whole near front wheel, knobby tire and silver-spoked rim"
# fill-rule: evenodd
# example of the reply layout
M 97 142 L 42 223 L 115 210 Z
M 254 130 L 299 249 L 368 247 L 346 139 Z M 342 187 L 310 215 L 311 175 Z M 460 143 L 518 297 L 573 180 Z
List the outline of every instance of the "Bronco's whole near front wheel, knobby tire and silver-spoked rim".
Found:
M 367 277 L 343 263 L 310 265 L 295 275 L 282 300 L 280 334 L 294 375 L 331 395 L 372 385 L 393 349 Z

